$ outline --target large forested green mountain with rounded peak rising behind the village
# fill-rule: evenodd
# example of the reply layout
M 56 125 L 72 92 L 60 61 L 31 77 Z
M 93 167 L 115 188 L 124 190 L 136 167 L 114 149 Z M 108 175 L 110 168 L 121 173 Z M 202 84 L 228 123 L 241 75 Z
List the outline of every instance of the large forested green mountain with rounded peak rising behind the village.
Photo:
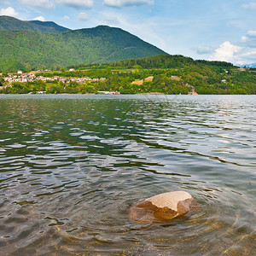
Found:
M 16 29 L 23 26 L 23 22 L 30 26 L 42 26 L 40 21 L 22 21 L 18 22 Z M 50 24 L 43 22 L 44 29 Z M 7 25 L 2 25 L 5 30 L 0 32 L 0 71 L 56 69 L 70 65 L 166 55 L 161 49 L 120 28 L 96 26 L 49 33 L 45 30 L 36 32 L 24 29 L 24 26 L 20 30 L 7 30 Z M 11 27 L 14 29 L 14 24 L 9 29 Z

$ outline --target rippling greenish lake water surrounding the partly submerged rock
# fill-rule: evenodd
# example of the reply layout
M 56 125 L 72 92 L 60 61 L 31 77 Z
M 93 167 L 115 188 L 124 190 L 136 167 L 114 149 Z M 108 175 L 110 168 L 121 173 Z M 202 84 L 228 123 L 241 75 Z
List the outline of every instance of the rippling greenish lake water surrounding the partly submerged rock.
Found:
M 256 253 L 256 96 L 0 96 L 0 131 L 1 255 Z

